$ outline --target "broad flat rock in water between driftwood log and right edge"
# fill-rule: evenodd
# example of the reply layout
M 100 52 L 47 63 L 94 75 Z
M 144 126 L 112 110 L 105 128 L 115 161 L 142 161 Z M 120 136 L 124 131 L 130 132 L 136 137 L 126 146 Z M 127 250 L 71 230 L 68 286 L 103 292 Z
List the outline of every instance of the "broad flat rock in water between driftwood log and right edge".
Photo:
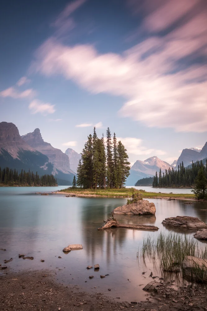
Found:
M 207 228 L 205 222 L 201 221 L 197 217 L 190 217 L 190 216 L 176 216 L 165 218 L 165 220 L 162 221 L 162 224 L 171 227 L 187 228 L 187 229 Z

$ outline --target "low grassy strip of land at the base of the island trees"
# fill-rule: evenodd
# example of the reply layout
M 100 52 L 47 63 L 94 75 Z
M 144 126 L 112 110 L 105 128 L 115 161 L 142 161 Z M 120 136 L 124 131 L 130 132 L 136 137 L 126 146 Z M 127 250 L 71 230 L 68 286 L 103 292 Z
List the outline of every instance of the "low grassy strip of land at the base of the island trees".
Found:
M 80 197 L 131 197 L 133 188 L 122 188 L 122 189 L 82 189 L 82 188 L 66 188 L 55 193 L 65 194 L 76 194 Z M 156 193 L 146 192 L 145 190 L 136 190 L 141 193 L 143 199 L 145 198 L 177 198 L 177 199 L 195 199 L 194 194 L 187 193 Z

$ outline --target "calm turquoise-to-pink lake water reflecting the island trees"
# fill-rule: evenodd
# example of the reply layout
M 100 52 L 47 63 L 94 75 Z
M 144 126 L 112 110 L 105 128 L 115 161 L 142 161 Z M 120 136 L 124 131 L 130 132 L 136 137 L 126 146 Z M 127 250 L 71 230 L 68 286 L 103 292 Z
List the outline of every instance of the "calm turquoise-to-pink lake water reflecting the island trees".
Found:
M 65 186 L 58 187 L 60 188 Z M 156 269 L 149 262 L 146 262 L 147 268 L 143 270 L 141 262 L 137 262 L 136 252 L 141 247 L 144 236 L 156 235 L 157 232 L 122 228 L 97 231 L 103 219 L 110 216 L 115 207 L 123 205 L 126 199 L 66 198 L 61 194 L 35 194 L 56 189 L 57 187 L 0 188 L 0 248 L 7 249 L 6 252 L 0 251 L 0 263 L 12 257 L 13 261 L 7 263 L 7 266 L 15 271 L 49 268 L 56 270 L 56 278 L 61 283 L 101 291 L 122 300 L 145 299 L 142 288 L 151 281 L 148 277 L 150 272 L 157 276 L 161 274 L 159 267 Z M 160 228 L 159 231 L 167 231 L 161 222 L 170 216 L 195 216 L 207 222 L 207 203 L 193 202 L 192 205 L 186 205 L 179 200 L 149 201 L 155 203 L 156 216 L 116 218 L 124 223 L 156 225 Z M 62 249 L 68 244 L 83 244 L 83 250 L 64 254 Z M 33 256 L 34 260 L 19 259 L 19 253 Z M 62 258 L 59 259 L 58 256 Z M 45 262 L 40 262 L 40 259 Z M 88 265 L 96 263 L 100 265 L 98 272 L 86 269 Z M 143 271 L 147 271 L 146 278 L 142 276 Z M 100 274 L 109 276 L 101 279 Z M 94 278 L 89 280 L 89 275 L 94 275 Z M 110 292 L 108 288 L 111 288 Z

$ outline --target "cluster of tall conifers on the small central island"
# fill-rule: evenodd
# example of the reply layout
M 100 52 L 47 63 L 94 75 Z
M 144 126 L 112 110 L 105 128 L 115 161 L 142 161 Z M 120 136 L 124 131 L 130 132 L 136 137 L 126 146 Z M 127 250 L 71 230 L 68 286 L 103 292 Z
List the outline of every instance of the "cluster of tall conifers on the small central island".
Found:
M 77 186 L 81 188 L 122 188 L 129 176 L 130 163 L 124 145 L 117 142 L 116 135 L 111 138 L 110 129 L 106 131 L 106 150 L 104 137 L 98 138 L 96 128 L 93 136 L 88 136 L 81 153 L 77 169 Z

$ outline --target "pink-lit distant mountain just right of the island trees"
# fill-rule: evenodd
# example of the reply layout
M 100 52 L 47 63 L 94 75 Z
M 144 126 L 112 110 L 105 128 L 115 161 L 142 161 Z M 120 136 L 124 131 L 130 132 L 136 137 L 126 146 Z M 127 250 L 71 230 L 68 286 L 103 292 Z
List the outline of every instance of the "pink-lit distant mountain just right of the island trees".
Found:
M 144 161 L 137 160 L 130 169 L 130 175 L 126 180 L 126 186 L 133 186 L 137 180 L 145 177 L 154 176 L 156 171 L 164 172 L 165 169 L 172 168 L 169 163 L 160 160 L 157 156 L 153 156 Z

